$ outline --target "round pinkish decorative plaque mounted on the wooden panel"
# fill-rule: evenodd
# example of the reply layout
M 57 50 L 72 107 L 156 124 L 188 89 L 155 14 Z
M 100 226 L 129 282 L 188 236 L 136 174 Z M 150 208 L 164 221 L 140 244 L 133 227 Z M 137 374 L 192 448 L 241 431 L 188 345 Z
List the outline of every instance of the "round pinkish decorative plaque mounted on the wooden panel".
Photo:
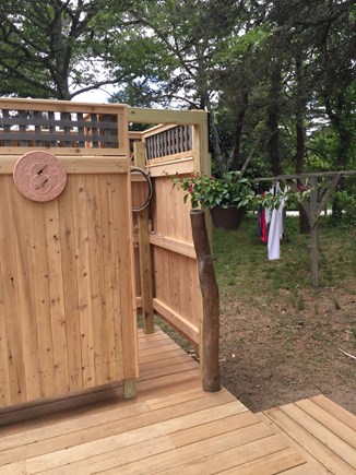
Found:
M 13 169 L 17 190 L 33 201 L 50 201 L 66 188 L 62 162 L 49 152 L 33 151 L 22 155 Z

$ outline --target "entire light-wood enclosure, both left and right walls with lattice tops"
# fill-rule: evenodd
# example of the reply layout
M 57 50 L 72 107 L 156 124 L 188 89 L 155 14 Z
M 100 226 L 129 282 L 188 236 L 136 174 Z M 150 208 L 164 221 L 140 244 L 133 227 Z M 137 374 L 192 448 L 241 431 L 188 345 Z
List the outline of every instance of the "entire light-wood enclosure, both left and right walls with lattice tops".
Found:
M 132 122 L 153 127 L 130 144 Z M 38 202 L 13 171 L 40 151 L 67 185 Z M 132 216 L 133 164 L 154 198 Z M 204 111 L 0 99 L 0 407 L 117 381 L 134 395 L 137 306 L 147 332 L 156 313 L 203 351 L 190 205 L 171 181 L 193 171 L 210 173 Z

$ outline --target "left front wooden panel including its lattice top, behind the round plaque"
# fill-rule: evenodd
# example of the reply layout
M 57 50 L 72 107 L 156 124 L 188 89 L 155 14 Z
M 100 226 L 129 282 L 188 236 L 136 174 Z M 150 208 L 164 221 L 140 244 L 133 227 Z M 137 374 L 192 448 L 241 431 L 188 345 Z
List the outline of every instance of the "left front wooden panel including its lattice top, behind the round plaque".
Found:
M 127 108 L 0 99 L 0 406 L 138 377 Z M 14 186 L 28 151 L 68 174 Z

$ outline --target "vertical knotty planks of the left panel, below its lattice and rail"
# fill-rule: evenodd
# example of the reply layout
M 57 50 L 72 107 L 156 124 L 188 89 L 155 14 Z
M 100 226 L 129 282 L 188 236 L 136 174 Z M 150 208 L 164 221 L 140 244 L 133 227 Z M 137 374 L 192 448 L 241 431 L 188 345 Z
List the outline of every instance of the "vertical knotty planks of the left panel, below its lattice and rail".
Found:
M 69 175 L 46 203 L 0 180 L 1 406 L 134 380 L 128 174 Z

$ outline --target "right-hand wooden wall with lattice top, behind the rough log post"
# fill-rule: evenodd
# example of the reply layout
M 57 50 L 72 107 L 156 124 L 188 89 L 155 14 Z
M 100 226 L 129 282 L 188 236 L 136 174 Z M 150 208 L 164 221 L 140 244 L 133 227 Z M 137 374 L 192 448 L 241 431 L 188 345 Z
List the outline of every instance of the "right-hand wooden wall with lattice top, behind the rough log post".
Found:
M 132 112 L 135 121 L 144 119 L 138 109 Z M 185 116 L 179 112 L 168 116 L 167 112 L 154 111 L 153 120 L 162 124 L 142 132 L 140 140 L 135 135 L 135 163 L 145 167 L 154 183 L 154 200 L 146 216 L 141 218 L 141 226 L 150 228 L 147 244 L 144 237 L 141 241 L 142 247 L 149 247 L 142 262 L 143 273 L 153 275 L 152 289 L 146 289 L 149 295 L 143 298 L 143 313 L 147 313 L 147 308 L 150 316 L 153 297 L 154 313 L 200 346 L 202 353 L 202 301 L 190 203 L 183 203 L 183 193 L 173 187 L 173 178 L 192 173 L 210 174 L 207 118 L 203 111 L 183 112 Z M 150 225 L 144 224 L 145 219 Z M 143 282 L 141 278 L 141 285 Z

